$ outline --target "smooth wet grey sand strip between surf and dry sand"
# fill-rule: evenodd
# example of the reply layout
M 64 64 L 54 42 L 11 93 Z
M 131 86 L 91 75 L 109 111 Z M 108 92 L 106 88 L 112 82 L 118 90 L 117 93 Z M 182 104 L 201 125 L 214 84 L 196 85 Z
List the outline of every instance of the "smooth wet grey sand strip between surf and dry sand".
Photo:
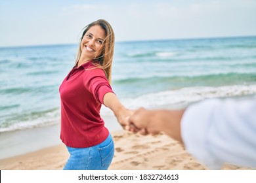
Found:
M 114 115 L 102 116 L 102 118 L 104 119 L 105 126 L 111 133 L 122 129 Z M 59 144 L 62 144 L 60 140 L 60 124 L 1 132 L 0 160 L 28 154 Z

